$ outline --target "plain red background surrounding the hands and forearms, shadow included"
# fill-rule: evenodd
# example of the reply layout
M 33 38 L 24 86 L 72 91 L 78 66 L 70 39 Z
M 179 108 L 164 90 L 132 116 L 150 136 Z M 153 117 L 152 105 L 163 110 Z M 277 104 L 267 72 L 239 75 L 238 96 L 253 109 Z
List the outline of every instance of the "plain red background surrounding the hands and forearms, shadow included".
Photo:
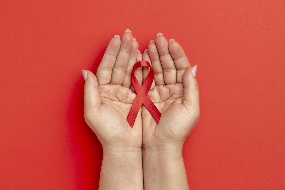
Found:
M 81 69 L 131 29 L 198 65 L 201 117 L 184 144 L 191 189 L 285 189 L 284 1 L 1 1 L 0 189 L 97 189 Z

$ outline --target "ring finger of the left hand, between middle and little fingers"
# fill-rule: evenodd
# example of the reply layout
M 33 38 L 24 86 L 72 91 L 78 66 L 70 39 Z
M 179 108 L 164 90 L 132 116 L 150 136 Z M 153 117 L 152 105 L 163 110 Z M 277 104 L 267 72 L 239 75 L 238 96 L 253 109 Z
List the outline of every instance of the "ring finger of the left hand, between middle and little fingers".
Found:
M 130 56 L 129 56 L 129 62 L 127 65 L 125 78 L 124 78 L 124 81 L 122 83 L 123 87 L 127 87 L 127 88 L 131 87 L 132 71 L 133 71 L 133 67 L 134 67 L 136 60 L 137 60 L 138 48 L 139 48 L 139 44 L 138 44 L 136 38 L 133 38 L 131 52 L 130 52 Z

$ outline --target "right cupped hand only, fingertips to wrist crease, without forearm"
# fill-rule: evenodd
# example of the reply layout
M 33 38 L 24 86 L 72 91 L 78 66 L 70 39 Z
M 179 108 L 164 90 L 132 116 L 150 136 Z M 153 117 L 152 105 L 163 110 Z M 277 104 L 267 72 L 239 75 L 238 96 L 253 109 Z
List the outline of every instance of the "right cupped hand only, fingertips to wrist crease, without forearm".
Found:
M 197 66 L 191 67 L 178 42 L 158 33 L 143 53 L 154 70 L 148 96 L 161 112 L 159 124 L 143 106 L 143 149 L 182 148 L 185 138 L 200 117 Z M 148 68 L 143 68 L 143 80 Z

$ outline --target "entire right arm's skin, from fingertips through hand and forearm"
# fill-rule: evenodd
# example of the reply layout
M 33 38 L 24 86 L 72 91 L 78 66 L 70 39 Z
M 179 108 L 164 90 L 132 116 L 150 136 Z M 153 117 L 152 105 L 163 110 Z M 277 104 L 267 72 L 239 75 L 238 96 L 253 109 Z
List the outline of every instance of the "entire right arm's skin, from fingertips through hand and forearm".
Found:
M 143 53 L 154 70 L 148 96 L 161 113 L 157 124 L 142 109 L 144 189 L 189 189 L 182 146 L 200 116 L 197 66 L 190 66 L 178 42 L 168 43 L 159 34 Z M 143 79 L 147 73 L 143 71 Z

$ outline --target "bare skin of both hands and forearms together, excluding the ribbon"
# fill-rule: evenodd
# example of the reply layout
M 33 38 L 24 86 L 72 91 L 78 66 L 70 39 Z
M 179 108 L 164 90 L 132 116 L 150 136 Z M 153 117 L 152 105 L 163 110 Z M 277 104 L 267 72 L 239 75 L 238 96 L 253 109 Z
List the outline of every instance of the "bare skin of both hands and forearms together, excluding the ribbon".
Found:
M 161 118 L 157 124 L 142 106 L 132 128 L 126 120 L 136 98 L 131 71 L 142 59 L 154 70 L 148 96 Z M 99 189 L 189 189 L 182 146 L 200 115 L 196 70 L 175 40 L 158 35 L 142 55 L 126 30 L 121 40 L 111 39 L 96 75 L 82 71 L 85 120 L 103 147 Z M 139 83 L 148 71 L 135 71 Z

